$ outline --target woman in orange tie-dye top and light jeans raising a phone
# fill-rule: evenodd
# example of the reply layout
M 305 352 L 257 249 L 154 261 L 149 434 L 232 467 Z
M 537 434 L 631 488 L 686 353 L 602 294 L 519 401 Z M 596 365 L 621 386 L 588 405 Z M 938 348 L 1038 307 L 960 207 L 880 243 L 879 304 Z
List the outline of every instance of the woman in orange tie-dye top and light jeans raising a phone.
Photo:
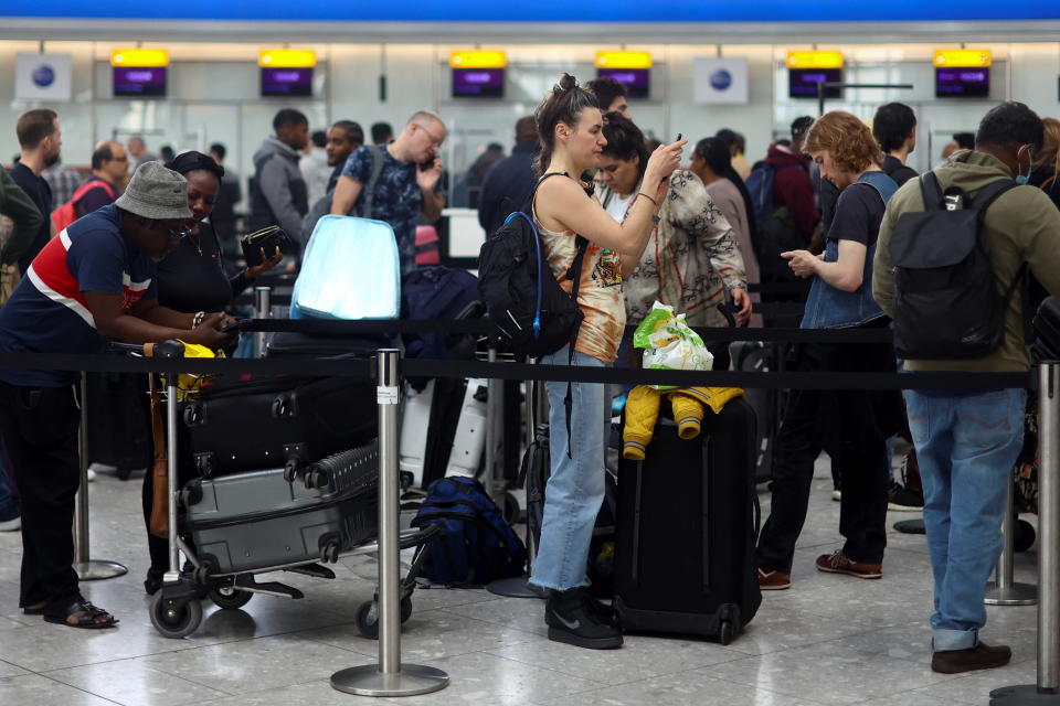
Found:
M 611 365 L 626 323 L 623 278 L 629 277 L 648 244 L 666 181 L 680 163 L 687 140 L 664 145 L 648 158 L 628 215 L 616 222 L 579 180 L 600 165 L 607 140 L 596 97 L 564 74 L 534 114 L 541 153 L 533 218 L 553 276 L 570 291 L 566 274 L 577 254 L 577 236 L 589 244 L 581 268 L 577 303 L 584 314 L 574 345 L 574 364 Z M 569 351 L 541 363 L 568 365 Z M 610 608 L 585 590 L 589 544 L 604 498 L 604 385 L 573 383 L 570 428 L 566 383 L 545 383 L 550 413 L 551 477 L 545 490 L 541 541 L 530 581 L 549 592 L 544 620 L 549 639 L 591 648 L 622 645 Z

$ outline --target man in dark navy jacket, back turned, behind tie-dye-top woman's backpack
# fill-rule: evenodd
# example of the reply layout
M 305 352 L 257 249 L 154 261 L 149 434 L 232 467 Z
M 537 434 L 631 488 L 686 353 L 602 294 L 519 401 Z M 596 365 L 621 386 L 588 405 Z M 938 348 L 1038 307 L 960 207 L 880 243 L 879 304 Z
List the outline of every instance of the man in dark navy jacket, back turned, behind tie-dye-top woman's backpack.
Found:
M 511 154 L 494 164 L 483 181 L 478 197 L 478 223 L 492 233 L 512 211 L 522 208 L 533 191 L 533 160 L 541 151 L 538 128 L 531 116 L 516 121 L 516 145 Z

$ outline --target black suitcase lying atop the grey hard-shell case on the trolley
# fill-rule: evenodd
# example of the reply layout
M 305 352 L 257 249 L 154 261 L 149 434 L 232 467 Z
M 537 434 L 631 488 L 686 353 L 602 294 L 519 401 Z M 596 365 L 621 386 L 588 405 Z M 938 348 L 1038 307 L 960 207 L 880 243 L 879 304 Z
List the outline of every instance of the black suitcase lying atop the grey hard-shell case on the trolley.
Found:
M 375 437 L 372 383 L 353 377 L 219 379 L 184 404 L 198 475 L 298 468 Z

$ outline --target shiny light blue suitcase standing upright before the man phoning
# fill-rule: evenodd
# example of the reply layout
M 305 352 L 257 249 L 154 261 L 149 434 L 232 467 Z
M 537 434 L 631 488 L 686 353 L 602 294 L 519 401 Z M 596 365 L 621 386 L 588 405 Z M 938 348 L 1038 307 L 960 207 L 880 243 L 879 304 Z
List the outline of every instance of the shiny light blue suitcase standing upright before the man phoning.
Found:
M 327 215 L 317 222 L 292 293 L 292 319 L 396 319 L 401 263 L 390 224 Z

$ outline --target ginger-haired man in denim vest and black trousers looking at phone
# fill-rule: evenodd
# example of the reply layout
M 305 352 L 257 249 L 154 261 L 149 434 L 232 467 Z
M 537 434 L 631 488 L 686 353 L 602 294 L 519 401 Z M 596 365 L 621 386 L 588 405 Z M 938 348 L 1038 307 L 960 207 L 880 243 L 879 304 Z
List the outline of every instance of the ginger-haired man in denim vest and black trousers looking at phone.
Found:
M 887 328 L 889 320 L 872 299 L 872 256 L 886 204 L 898 186 L 880 168 L 883 156 L 868 126 L 849 113 L 833 110 L 814 121 L 805 149 L 840 195 L 825 252 L 783 254 L 792 271 L 812 279 L 802 328 Z M 805 343 L 797 347 L 795 368 L 893 372 L 894 351 L 887 343 Z M 842 471 L 839 532 L 846 543 L 817 557 L 816 567 L 862 579 L 883 575 L 886 440 L 898 431 L 900 417 L 901 400 L 892 391 L 792 391 L 776 438 L 771 513 L 759 537 L 762 589 L 791 586 L 795 543 L 822 450 Z

